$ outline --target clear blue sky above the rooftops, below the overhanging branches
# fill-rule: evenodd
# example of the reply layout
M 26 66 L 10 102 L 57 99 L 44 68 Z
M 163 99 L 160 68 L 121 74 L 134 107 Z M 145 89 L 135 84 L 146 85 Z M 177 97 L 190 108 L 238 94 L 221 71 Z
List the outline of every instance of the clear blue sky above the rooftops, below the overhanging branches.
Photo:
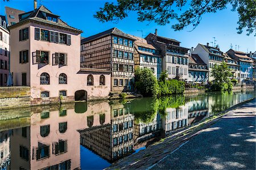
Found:
M 192 30 L 192 27 L 184 28 L 182 31 L 174 31 L 171 29 L 171 25 L 160 26 L 155 23 L 138 22 L 137 14 L 130 12 L 128 18 L 119 21 L 115 24 L 112 22 L 100 23 L 97 19 L 93 18 L 93 14 L 104 6 L 104 3 L 108 0 L 38 0 L 38 5 L 42 4 L 46 6 L 54 14 L 61 17 L 64 22 L 75 28 L 79 28 L 82 31 L 82 36 L 88 37 L 96 33 L 105 31 L 106 29 L 117 27 L 123 32 L 130 33 L 135 36 L 147 36 L 148 33 L 154 33 L 155 28 L 158 29 L 159 36 L 170 37 L 181 42 L 181 46 L 191 48 L 196 47 L 198 43 L 207 44 L 207 42 L 213 42 L 213 37 L 216 37 L 216 44 L 218 44 L 223 52 L 230 49 L 232 43 L 233 49 L 243 52 L 254 52 L 256 50 L 256 39 L 254 35 L 246 36 L 246 32 L 241 35 L 237 34 L 236 28 L 238 27 L 238 15 L 237 12 L 230 11 L 230 7 L 225 10 L 218 11 L 215 14 L 205 14 L 199 26 Z M 0 14 L 5 15 L 5 6 L 18 8 L 23 11 L 31 11 L 34 7 L 34 0 L 10 0 L 9 2 L 3 2 L 0 0 Z M 175 21 L 171 21 L 175 23 Z M 191 31 L 191 32 L 190 32 Z M 211 43 L 210 43 L 211 45 Z

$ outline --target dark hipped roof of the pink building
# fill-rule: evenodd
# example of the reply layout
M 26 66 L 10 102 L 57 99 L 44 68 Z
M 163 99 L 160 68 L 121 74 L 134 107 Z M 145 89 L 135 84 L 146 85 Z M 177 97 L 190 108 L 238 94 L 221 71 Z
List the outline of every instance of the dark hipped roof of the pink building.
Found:
M 50 20 L 47 20 L 47 19 L 44 19 L 42 17 L 39 17 L 40 16 L 40 12 L 45 12 L 47 14 L 51 14 L 51 15 L 54 15 L 56 16 L 57 18 L 57 23 L 56 22 L 52 22 Z M 39 8 L 37 8 L 36 10 L 34 11 L 30 11 L 30 12 L 26 12 L 26 13 L 23 13 L 23 14 L 19 14 L 19 23 L 23 23 L 23 22 L 26 22 L 28 20 L 33 20 L 35 22 L 40 22 L 40 23 L 46 23 L 46 24 L 50 24 L 50 25 L 55 25 L 55 26 L 58 26 L 58 27 L 62 27 L 62 28 L 67 28 L 67 29 L 71 29 L 72 31 L 76 31 L 76 32 L 82 32 L 80 29 L 76 29 L 74 27 L 71 27 L 69 26 L 67 23 L 63 22 L 63 20 L 61 20 L 59 18 L 59 16 L 55 15 L 55 14 L 52 14 L 51 11 L 49 11 L 46 7 L 44 7 L 43 5 L 40 6 Z M 12 28 L 12 26 L 10 26 L 10 28 Z

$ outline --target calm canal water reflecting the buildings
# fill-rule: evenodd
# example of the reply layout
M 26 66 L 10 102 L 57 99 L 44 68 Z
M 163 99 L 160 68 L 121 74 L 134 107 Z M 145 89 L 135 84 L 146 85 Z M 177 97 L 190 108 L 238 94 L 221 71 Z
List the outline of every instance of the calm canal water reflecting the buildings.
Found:
M 255 91 L 0 111 L 0 169 L 103 169 Z

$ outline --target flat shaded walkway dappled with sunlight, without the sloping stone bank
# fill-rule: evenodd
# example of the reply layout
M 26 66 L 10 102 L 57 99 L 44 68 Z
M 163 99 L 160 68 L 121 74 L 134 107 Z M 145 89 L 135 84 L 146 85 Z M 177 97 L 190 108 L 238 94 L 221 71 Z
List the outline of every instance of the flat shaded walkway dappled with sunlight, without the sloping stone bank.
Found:
M 229 111 L 151 169 L 256 169 L 255 107 Z

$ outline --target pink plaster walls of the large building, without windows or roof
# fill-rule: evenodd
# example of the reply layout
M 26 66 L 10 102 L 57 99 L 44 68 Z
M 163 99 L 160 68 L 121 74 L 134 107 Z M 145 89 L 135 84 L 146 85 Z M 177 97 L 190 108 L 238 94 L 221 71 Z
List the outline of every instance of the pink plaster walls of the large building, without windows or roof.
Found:
M 19 41 L 19 29 L 29 27 L 29 39 Z M 71 45 L 56 44 L 53 42 L 35 40 L 35 28 L 47 29 L 49 31 L 58 31 L 71 35 Z M 67 96 L 74 96 L 77 90 L 85 90 L 88 98 L 106 97 L 110 92 L 110 74 L 105 74 L 105 86 L 100 86 L 100 75 L 92 74 L 94 78 L 94 86 L 87 86 L 87 76 L 89 74 L 77 74 L 80 70 L 80 34 L 49 27 L 47 25 L 28 23 L 18 28 L 11 29 L 11 71 L 14 72 L 14 85 L 22 84 L 22 73 L 27 73 L 27 86 L 31 87 L 31 97 L 40 98 L 41 91 L 49 91 L 49 97 L 58 97 L 60 90 L 67 90 Z M 19 51 L 29 50 L 29 62 L 25 64 L 19 63 Z M 49 52 L 49 64 L 38 69 L 38 64 L 32 64 L 32 52 L 36 50 Z M 52 65 L 53 53 L 67 53 L 67 66 L 59 67 Z M 40 75 L 48 73 L 50 76 L 50 84 L 41 85 Z M 64 73 L 67 75 L 68 84 L 59 84 L 59 75 Z

